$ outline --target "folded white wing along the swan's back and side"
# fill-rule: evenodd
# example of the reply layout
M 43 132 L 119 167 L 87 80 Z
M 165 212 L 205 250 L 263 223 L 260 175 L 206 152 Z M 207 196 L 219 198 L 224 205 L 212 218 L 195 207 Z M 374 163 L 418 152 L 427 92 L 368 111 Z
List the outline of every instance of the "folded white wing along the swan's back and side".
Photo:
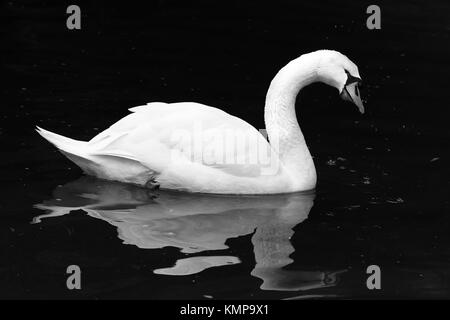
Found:
M 272 152 L 242 119 L 199 103 L 149 103 L 89 141 L 97 155 L 139 160 L 161 172 L 173 161 L 198 162 L 240 177 L 261 174 L 260 154 Z

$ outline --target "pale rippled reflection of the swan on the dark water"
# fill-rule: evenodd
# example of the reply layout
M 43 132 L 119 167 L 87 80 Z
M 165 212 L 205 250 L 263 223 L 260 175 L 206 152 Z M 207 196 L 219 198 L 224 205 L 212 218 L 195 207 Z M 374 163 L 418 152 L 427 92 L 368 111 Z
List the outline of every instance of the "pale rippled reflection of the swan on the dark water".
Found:
M 150 191 L 83 177 L 54 191 L 54 199 L 37 204 L 56 217 L 81 209 L 117 227 L 126 244 L 155 249 L 167 246 L 184 253 L 223 250 L 229 238 L 251 234 L 256 265 L 251 274 L 265 290 L 307 290 L 332 286 L 339 272 L 290 271 L 292 228 L 308 217 L 314 195 L 224 196 Z M 187 275 L 210 267 L 239 263 L 234 256 L 198 256 L 176 261 L 158 274 Z

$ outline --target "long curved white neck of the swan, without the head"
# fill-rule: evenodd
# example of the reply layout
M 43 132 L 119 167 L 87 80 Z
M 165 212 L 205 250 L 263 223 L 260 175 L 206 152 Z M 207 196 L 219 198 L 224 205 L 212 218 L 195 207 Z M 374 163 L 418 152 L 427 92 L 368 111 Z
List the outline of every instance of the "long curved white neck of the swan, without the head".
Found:
M 264 119 L 269 141 L 292 180 L 300 189 L 312 189 L 316 170 L 297 122 L 295 100 L 308 84 L 320 81 L 319 60 L 303 55 L 282 68 L 272 80 L 266 97 Z

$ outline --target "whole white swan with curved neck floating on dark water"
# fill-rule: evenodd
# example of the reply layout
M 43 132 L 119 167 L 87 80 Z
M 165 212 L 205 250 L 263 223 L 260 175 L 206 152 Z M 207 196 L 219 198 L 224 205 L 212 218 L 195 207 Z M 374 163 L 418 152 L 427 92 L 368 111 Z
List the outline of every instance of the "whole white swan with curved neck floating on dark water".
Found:
M 265 123 L 270 144 L 254 127 L 193 102 L 131 108 L 128 116 L 88 142 L 37 128 L 84 172 L 147 187 L 224 194 L 270 194 L 314 189 L 316 170 L 295 114 L 300 89 L 336 87 L 363 113 L 357 66 L 331 50 L 304 54 L 272 80 Z

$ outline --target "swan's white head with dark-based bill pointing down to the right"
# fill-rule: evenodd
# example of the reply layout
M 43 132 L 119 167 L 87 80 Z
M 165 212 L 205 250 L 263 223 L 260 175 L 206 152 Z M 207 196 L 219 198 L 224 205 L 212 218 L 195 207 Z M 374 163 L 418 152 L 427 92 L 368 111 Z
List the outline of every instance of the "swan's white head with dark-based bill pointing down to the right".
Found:
M 359 111 L 364 113 L 359 90 L 361 76 L 358 67 L 337 51 L 320 50 L 315 54 L 319 58 L 317 74 L 322 82 L 337 88 L 342 99 L 353 102 Z

